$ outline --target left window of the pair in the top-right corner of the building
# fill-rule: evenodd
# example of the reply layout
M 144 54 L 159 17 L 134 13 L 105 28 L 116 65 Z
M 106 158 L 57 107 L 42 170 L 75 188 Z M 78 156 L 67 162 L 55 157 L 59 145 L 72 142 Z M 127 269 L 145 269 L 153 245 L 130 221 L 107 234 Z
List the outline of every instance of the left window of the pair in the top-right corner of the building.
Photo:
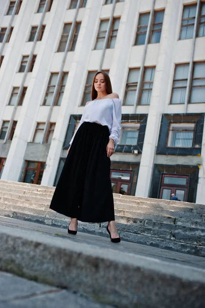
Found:
M 183 7 L 180 40 L 193 37 L 195 17 L 196 4 Z

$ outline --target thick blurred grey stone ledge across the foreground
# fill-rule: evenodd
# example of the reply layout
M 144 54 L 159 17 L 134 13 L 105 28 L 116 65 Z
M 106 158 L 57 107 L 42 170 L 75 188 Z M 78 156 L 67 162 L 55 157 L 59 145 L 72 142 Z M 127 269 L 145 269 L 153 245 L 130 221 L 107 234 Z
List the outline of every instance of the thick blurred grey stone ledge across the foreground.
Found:
M 79 243 L 39 232 L 0 227 L 0 268 L 78 291 L 117 307 L 200 308 L 205 270 Z M 120 244 L 117 244 L 120 245 Z M 106 295 L 106 296 L 105 296 Z

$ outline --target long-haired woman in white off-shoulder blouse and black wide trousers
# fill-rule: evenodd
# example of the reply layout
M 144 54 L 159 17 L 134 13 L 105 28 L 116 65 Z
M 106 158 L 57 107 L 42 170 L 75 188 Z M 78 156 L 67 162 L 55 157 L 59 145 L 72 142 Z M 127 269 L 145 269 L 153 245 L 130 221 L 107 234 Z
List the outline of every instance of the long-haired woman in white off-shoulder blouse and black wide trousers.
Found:
M 71 218 L 69 234 L 77 234 L 78 220 L 108 221 L 110 240 L 120 242 L 116 230 L 110 181 L 110 156 L 121 133 L 122 107 L 109 75 L 98 71 L 74 133 L 50 208 Z

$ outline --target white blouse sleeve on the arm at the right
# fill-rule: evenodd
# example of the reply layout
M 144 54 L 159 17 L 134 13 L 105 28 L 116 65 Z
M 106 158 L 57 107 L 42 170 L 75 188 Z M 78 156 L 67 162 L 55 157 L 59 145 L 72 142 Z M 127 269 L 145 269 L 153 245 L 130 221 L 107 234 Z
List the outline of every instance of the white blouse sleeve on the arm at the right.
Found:
M 113 103 L 113 125 L 111 127 L 109 139 L 114 139 L 114 145 L 116 145 L 121 135 L 122 102 L 119 99 L 118 101 L 113 100 Z

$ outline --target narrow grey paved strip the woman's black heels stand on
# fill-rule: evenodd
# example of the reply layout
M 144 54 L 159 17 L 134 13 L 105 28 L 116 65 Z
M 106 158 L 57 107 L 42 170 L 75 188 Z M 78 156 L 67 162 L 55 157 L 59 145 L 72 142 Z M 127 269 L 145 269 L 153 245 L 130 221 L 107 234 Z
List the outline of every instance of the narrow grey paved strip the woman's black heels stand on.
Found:
M 190 264 L 199 268 L 205 269 L 205 258 L 168 251 L 166 249 L 156 248 L 147 245 L 141 245 L 136 243 L 130 243 L 126 241 L 121 241 L 119 244 L 111 243 L 109 240 L 109 236 L 107 238 L 101 236 L 95 236 L 86 233 L 78 232 L 75 237 L 69 235 L 67 230 L 59 227 L 52 227 L 49 225 L 28 222 L 23 220 L 17 220 L 13 218 L 7 218 L 0 216 L 0 225 L 7 225 L 11 227 L 17 227 L 23 230 L 34 230 L 42 233 L 46 233 L 52 236 L 60 236 L 69 238 L 69 240 L 73 241 L 73 243 L 87 243 L 91 245 L 95 245 L 101 248 L 115 248 L 115 251 L 119 252 L 127 252 L 140 256 L 148 256 L 152 258 L 156 258 L 161 261 L 172 261 L 172 263 L 177 264 Z

